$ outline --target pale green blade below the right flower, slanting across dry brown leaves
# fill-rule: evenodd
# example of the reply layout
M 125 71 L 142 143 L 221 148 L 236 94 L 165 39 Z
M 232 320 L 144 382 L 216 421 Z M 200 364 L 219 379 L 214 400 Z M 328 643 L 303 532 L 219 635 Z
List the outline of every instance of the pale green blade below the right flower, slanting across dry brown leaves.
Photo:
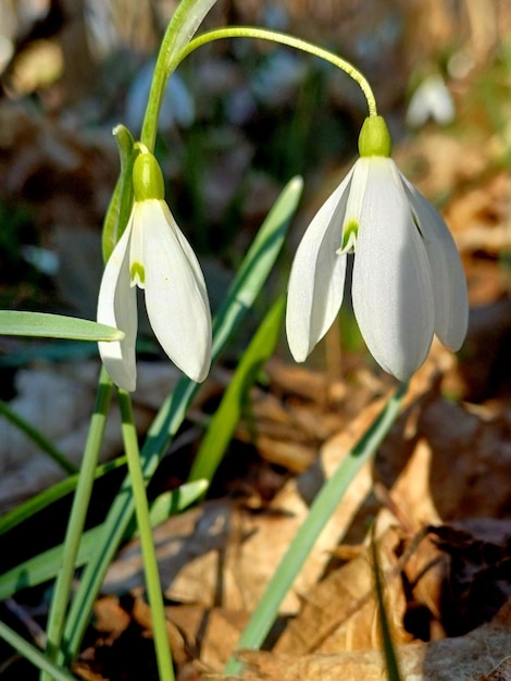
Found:
M 257 649 L 264 642 L 281 603 L 311 553 L 320 532 L 336 509 L 353 478 L 381 445 L 396 420 L 406 391 L 406 384 L 398 387 L 353 449 L 342 459 L 332 478 L 321 487 L 306 521 L 295 535 L 242 632 L 237 649 Z M 225 676 L 237 676 L 241 668 L 242 664 L 233 655 L 225 668 Z

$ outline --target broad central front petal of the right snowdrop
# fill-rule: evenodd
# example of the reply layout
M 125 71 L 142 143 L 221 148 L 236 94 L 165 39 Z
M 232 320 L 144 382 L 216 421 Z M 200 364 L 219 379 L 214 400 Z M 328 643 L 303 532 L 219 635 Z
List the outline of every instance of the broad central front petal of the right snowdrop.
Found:
M 354 314 L 376 361 L 407 381 L 433 339 L 429 263 L 394 161 L 361 162 L 369 174 L 353 265 Z M 361 189 L 356 171 L 351 191 Z

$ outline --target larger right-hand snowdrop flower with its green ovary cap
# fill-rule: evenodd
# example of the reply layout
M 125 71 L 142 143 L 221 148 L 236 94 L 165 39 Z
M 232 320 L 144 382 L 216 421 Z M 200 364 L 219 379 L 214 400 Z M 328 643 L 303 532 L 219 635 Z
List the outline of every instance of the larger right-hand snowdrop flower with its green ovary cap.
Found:
M 450 349 L 461 347 L 466 282 L 444 220 L 389 158 L 381 116 L 365 120 L 359 150 L 298 247 L 287 338 L 296 361 L 304 361 L 339 311 L 347 253 L 354 252 L 351 293 L 362 336 L 381 367 L 407 381 L 424 362 L 434 333 Z

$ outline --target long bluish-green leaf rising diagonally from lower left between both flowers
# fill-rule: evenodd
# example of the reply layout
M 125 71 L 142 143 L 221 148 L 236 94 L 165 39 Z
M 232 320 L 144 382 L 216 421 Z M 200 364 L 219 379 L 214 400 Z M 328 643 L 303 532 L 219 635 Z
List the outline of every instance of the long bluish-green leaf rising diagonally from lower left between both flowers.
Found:
M 290 219 L 300 199 L 301 190 L 301 178 L 296 177 L 288 183 L 249 249 L 227 293 L 224 305 L 213 322 L 213 361 L 219 358 L 242 315 L 253 304 L 273 268 L 284 243 Z M 198 384 L 183 377 L 174 393 L 162 405 L 140 450 L 146 480 L 152 476 L 170 441 L 182 424 L 198 388 Z M 126 480 L 103 523 L 101 541 L 98 542 L 94 559 L 84 570 L 76 597 L 70 610 L 65 629 L 65 639 L 68 641 L 67 661 L 76 655 L 79 648 L 101 582 L 119 548 L 133 512 L 133 494 L 129 481 Z

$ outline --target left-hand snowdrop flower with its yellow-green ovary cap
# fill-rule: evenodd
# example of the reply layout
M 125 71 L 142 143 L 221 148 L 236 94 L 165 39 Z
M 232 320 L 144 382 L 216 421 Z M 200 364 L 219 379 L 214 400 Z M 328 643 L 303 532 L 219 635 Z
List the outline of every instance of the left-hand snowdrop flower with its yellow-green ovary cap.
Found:
M 135 202 L 99 292 L 98 322 L 121 329 L 121 342 L 100 343 L 112 381 L 136 387 L 136 286 L 145 290 L 149 322 L 171 360 L 192 381 L 205 379 L 211 362 L 211 313 L 199 262 L 163 200 L 155 158 L 140 153 L 133 171 Z

